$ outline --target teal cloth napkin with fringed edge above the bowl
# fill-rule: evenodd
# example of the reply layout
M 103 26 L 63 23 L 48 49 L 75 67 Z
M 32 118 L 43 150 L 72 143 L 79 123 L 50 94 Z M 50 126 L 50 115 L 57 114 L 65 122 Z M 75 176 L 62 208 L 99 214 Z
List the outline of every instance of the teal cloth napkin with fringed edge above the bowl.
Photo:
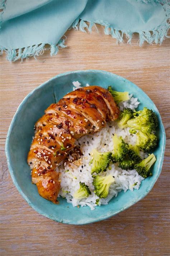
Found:
M 139 45 L 160 43 L 170 27 L 169 0 L 0 0 L 0 51 L 9 61 L 66 47 L 64 33 L 71 28 L 89 31 L 95 23 L 106 35 L 131 42 L 134 32 Z

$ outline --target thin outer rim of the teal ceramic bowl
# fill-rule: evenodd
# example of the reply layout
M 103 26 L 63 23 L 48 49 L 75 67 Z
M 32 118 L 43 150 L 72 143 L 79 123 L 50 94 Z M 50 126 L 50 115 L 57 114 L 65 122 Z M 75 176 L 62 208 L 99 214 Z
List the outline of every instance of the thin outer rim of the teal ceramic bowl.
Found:
M 90 224 L 90 223 L 95 223 L 95 222 L 98 222 L 98 221 L 101 221 L 101 220 L 105 220 L 105 219 L 108 219 L 116 214 L 118 214 L 119 212 L 122 212 L 126 209 L 128 209 L 129 207 L 131 207 L 132 205 L 134 205 L 135 203 L 139 202 L 141 199 L 143 199 L 145 196 L 147 196 L 147 194 L 151 191 L 151 189 L 154 187 L 154 184 L 156 183 L 158 177 L 160 176 L 160 173 L 161 173 L 161 170 L 162 170 L 162 165 L 163 165 L 163 162 L 164 162 L 164 153 L 165 153 L 165 145 L 166 145 L 166 134 L 165 134 L 165 128 L 164 128 L 164 125 L 162 123 L 162 118 L 161 118 L 161 115 L 155 105 L 155 103 L 150 99 L 150 97 L 140 88 L 138 87 L 138 91 L 141 91 L 142 93 L 144 93 L 152 102 L 153 106 L 155 107 L 157 113 L 159 114 L 160 116 L 160 129 L 162 130 L 162 134 L 163 134 L 163 144 L 162 144 L 162 147 L 161 147 L 161 160 L 160 160 L 160 163 L 159 163 L 159 166 L 158 166 L 158 169 L 159 169 L 159 172 L 157 173 L 157 175 L 155 176 L 155 179 L 154 181 L 148 186 L 148 189 L 145 191 L 145 193 L 143 193 L 141 196 L 139 196 L 137 199 L 135 198 L 134 201 L 132 201 L 131 203 L 129 203 L 129 205 L 126 205 L 125 207 L 122 207 L 121 209 L 119 209 L 117 212 L 114 212 L 114 213 L 110 213 L 109 215 L 107 216 L 102 216 L 96 220 L 89 220 L 89 221 L 85 221 L 84 223 L 76 223 L 74 221 L 63 221 L 63 219 L 59 219 L 59 218 L 56 218 L 56 217 L 53 217 L 53 216 L 49 216 L 48 214 L 45 214 L 43 211 L 39 210 L 39 208 L 34 205 L 34 203 L 32 203 L 28 197 L 24 194 L 24 192 L 22 191 L 22 189 L 19 187 L 17 181 L 16 181 L 16 178 L 13 174 L 13 168 L 10 164 L 11 162 L 11 159 L 10 159 L 10 153 L 9 153 L 9 135 L 11 133 L 11 130 L 13 129 L 13 125 L 15 123 L 15 120 L 17 118 L 17 115 L 20 111 L 20 108 L 22 107 L 22 105 L 27 101 L 27 99 L 32 96 L 32 94 L 35 93 L 35 91 L 41 89 L 43 86 L 45 86 L 46 84 L 48 84 L 49 81 L 52 81 L 53 79 L 55 78 L 58 78 L 58 77 L 61 77 L 61 76 L 65 76 L 65 75 L 69 75 L 71 73 L 78 73 L 78 72 L 84 72 L 84 73 L 88 73 L 88 72 L 95 72 L 95 73 L 103 73 L 103 74 L 106 74 L 106 75 L 113 75 L 115 77 L 117 77 L 118 79 L 120 80 L 124 80 L 126 82 L 130 82 L 131 84 L 133 84 L 135 87 L 138 87 L 136 84 L 134 84 L 133 82 L 129 81 L 128 79 L 122 77 L 122 76 L 119 76 L 119 75 L 116 75 L 112 72 L 108 72 L 108 71 L 104 71 L 104 70 L 99 70 L 99 69 L 86 69 L 86 70 L 76 70 L 76 71 L 69 71 L 69 72 L 64 72 L 64 73 L 60 73 L 56 76 L 53 76 L 52 78 L 50 78 L 49 80 L 45 81 L 43 84 L 37 86 L 36 88 L 34 88 L 30 93 L 28 93 L 25 98 L 22 100 L 22 102 L 19 104 L 18 108 L 16 109 L 16 112 L 12 118 L 12 121 L 10 123 L 10 126 L 9 126 L 9 129 L 8 129 L 8 133 L 7 133 L 7 136 L 6 136 L 6 142 L 5 142 L 5 154 L 6 154 L 6 159 L 7 159 L 7 164 L 8 164 L 8 169 L 9 169 L 9 172 L 10 172 L 10 175 L 11 175 L 11 178 L 13 180 L 13 183 L 16 187 L 16 189 L 19 191 L 19 193 L 22 195 L 22 197 L 25 199 L 25 201 L 29 204 L 29 206 L 31 206 L 35 211 L 37 211 L 39 214 L 47 217 L 48 219 L 52 219 L 52 220 L 55 220 L 59 223 L 64 223 L 64 224 L 71 224 L 71 225 L 85 225 L 85 224 Z

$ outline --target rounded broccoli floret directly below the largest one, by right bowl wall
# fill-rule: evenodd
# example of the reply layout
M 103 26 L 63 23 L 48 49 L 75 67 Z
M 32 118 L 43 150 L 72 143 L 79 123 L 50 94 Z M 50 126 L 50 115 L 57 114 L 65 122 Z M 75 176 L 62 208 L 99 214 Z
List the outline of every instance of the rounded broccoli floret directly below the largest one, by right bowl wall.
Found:
M 157 137 L 152 133 L 142 133 L 142 131 L 138 131 L 136 145 L 143 149 L 144 152 L 148 152 L 151 149 L 156 147 Z

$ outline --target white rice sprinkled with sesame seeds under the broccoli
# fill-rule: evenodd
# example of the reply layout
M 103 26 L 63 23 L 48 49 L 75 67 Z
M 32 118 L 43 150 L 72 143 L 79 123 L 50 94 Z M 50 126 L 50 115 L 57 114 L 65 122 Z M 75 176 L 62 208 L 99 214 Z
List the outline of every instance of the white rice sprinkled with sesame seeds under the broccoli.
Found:
M 73 82 L 73 90 L 80 88 L 81 84 L 76 81 Z M 89 86 L 89 84 L 86 84 Z M 119 108 L 122 110 L 124 107 L 129 107 L 131 109 L 135 109 L 138 107 L 138 98 L 133 98 L 132 94 L 129 95 L 129 100 L 123 103 L 119 103 Z M 111 126 L 111 127 L 110 127 Z M 91 166 L 89 166 L 89 161 L 91 160 L 91 156 L 89 156 L 92 149 L 97 149 L 99 152 L 108 152 L 113 151 L 113 141 L 112 134 L 117 134 L 118 136 L 122 136 L 122 138 L 128 142 L 129 144 L 135 144 L 136 135 L 129 134 L 129 128 L 119 129 L 116 122 L 107 123 L 106 127 L 101 129 L 98 133 L 85 135 L 79 140 L 77 140 L 77 145 L 80 143 L 80 148 L 84 156 L 81 157 L 82 164 L 79 167 L 71 164 L 71 167 L 68 165 L 63 166 L 61 163 L 60 166 L 57 167 L 57 171 L 61 172 L 61 190 L 59 193 L 59 197 L 66 198 L 68 203 L 72 203 L 75 206 L 89 206 L 91 210 L 95 209 L 96 199 L 99 197 L 94 194 L 94 186 L 92 184 L 93 178 L 91 176 Z M 106 145 L 105 145 L 106 144 Z M 70 160 L 71 160 L 71 156 Z M 142 159 L 147 157 L 147 154 L 141 152 Z M 83 168 L 82 168 L 83 166 Z M 106 176 L 111 174 L 114 176 L 115 182 L 110 185 L 109 194 L 107 198 L 101 198 L 99 200 L 99 206 L 107 205 L 110 199 L 114 196 L 117 197 L 118 192 L 122 190 L 126 192 L 128 189 L 133 191 L 133 189 L 139 189 L 141 181 L 144 179 L 140 175 L 138 175 L 136 170 L 122 170 L 118 167 L 118 164 L 112 164 L 111 170 L 107 170 L 106 172 L 100 173 L 102 176 Z M 69 171 L 67 171 L 69 170 Z M 81 170 L 81 171 L 80 171 Z M 91 190 L 91 195 L 86 199 L 75 199 L 74 193 L 77 189 L 79 189 L 79 182 L 84 182 L 89 186 Z M 135 185 L 136 184 L 136 185 Z

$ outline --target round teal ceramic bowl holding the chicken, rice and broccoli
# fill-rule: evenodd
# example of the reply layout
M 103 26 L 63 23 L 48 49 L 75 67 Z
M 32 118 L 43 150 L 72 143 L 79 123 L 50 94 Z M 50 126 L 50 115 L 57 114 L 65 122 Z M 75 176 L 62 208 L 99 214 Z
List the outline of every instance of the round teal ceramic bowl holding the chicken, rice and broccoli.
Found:
M 44 110 L 63 95 L 72 90 L 72 81 L 81 85 L 99 85 L 107 88 L 112 85 L 117 91 L 128 91 L 138 97 L 141 102 L 139 109 L 144 106 L 153 109 L 159 120 L 157 136 L 159 143 L 154 151 L 157 161 L 152 168 L 153 176 L 142 181 L 140 189 L 126 193 L 123 191 L 113 198 L 108 205 L 96 207 L 73 207 L 65 199 L 59 198 L 59 205 L 39 196 L 36 185 L 31 183 L 30 168 L 27 164 L 27 154 L 34 135 L 34 123 L 44 114 Z M 123 77 L 99 70 L 74 71 L 55 76 L 29 93 L 18 110 L 9 127 L 6 139 L 6 156 L 13 182 L 29 205 L 49 219 L 66 224 L 88 224 L 107 219 L 145 197 L 154 186 L 161 173 L 165 151 L 165 130 L 161 116 L 152 100 L 135 84 Z M 16 198 L 17 200 L 17 198 Z

